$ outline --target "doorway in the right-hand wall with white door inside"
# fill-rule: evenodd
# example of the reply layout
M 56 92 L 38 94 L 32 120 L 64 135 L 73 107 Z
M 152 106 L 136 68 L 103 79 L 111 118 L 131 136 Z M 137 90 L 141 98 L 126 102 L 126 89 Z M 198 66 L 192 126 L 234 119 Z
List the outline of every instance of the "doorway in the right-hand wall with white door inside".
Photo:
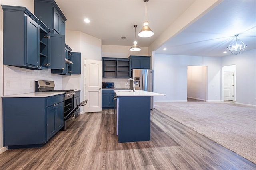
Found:
M 236 65 L 222 68 L 222 92 L 224 102 L 236 101 Z

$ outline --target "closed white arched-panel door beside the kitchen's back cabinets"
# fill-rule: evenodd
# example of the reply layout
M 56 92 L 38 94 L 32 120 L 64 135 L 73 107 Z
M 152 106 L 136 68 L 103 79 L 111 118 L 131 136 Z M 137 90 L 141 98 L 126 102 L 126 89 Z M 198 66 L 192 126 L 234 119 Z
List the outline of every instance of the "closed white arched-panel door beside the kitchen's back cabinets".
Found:
M 102 61 L 85 60 L 85 112 L 99 112 L 101 107 Z

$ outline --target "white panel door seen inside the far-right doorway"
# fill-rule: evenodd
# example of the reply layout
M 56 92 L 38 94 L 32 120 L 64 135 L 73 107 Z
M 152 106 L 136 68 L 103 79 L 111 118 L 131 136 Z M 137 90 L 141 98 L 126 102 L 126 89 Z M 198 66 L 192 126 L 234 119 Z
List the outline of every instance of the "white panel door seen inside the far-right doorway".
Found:
M 224 100 L 232 100 L 234 98 L 234 72 L 224 72 Z

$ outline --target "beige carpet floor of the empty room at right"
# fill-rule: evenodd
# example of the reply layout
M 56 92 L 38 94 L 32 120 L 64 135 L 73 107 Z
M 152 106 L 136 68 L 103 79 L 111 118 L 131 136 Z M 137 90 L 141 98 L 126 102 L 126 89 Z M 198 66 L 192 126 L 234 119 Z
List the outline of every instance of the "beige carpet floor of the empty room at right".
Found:
M 226 102 L 156 102 L 155 109 L 256 163 L 256 107 Z

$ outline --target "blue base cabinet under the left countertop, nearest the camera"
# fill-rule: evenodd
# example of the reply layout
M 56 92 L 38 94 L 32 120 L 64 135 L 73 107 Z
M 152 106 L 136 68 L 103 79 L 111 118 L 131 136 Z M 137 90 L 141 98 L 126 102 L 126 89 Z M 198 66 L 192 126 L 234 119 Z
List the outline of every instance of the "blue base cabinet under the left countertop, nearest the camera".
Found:
M 3 144 L 8 149 L 43 146 L 64 125 L 63 94 L 3 98 Z

